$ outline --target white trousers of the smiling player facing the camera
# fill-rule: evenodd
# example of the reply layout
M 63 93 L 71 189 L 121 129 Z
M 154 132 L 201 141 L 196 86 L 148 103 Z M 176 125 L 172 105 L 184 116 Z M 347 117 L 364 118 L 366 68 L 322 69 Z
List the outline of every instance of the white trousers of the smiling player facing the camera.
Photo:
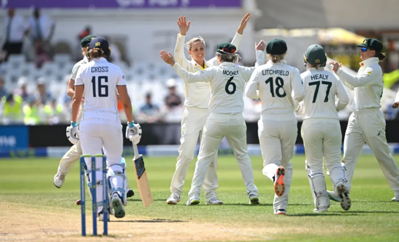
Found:
M 202 135 L 204 125 L 208 119 L 208 109 L 200 109 L 195 107 L 186 107 L 182 119 L 182 137 L 180 138 L 180 147 L 178 149 L 179 156 L 176 163 L 176 171 L 172 177 L 170 191 L 175 196 L 182 194 L 184 180 L 186 179 L 188 165 L 194 158 L 198 137 L 202 143 Z M 219 186 L 217 180 L 217 153 L 211 157 L 211 163 L 203 181 L 203 190 L 205 198 L 208 200 L 217 197 L 215 190 Z

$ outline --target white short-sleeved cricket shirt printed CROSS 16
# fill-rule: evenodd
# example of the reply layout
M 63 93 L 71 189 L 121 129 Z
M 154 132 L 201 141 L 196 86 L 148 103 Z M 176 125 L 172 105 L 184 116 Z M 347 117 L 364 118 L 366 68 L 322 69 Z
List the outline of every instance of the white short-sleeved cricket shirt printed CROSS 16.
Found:
M 117 86 L 126 85 L 119 66 L 105 58 L 94 59 L 81 66 L 77 73 L 75 86 L 84 85 L 85 119 L 108 119 L 120 121 L 117 103 Z

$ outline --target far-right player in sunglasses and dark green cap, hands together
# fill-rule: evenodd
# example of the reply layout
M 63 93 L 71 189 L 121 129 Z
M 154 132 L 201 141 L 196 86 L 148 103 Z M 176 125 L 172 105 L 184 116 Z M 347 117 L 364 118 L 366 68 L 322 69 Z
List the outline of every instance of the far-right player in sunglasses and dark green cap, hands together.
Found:
M 344 139 L 344 167 L 348 179 L 348 193 L 356 163 L 359 160 L 364 142 L 369 145 L 387 179 L 389 187 L 395 192 L 392 201 L 399 201 L 399 168 L 393 159 L 385 139 L 385 118 L 379 110 L 383 91 L 383 73 L 379 61 L 385 59 L 381 53 L 383 45 L 379 40 L 367 38 L 358 45 L 360 68 L 354 76 L 341 68 L 341 64 L 331 61 L 333 70 L 342 83 L 355 91 L 352 103 L 353 113 L 349 117 Z M 332 197 L 333 200 L 336 198 Z

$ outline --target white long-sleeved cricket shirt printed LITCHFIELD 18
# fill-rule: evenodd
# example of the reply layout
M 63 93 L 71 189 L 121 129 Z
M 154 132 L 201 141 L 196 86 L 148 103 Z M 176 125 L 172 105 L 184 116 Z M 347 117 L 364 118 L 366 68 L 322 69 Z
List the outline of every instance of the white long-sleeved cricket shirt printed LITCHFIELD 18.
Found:
M 252 73 L 245 88 L 245 95 L 252 99 L 261 99 L 261 115 L 293 114 L 296 103 L 302 101 L 305 89 L 296 67 L 282 60 L 277 63 L 267 61 Z

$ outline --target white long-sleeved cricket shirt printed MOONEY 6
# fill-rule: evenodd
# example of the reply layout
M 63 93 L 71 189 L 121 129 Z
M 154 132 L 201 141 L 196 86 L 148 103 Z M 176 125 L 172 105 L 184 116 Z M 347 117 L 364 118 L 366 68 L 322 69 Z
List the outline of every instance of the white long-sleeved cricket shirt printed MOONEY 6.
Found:
M 258 50 L 257 63 L 261 65 L 265 53 Z M 208 67 L 203 71 L 190 73 L 178 63 L 173 69 L 187 83 L 199 81 L 209 83 L 211 96 L 209 112 L 211 113 L 242 113 L 244 109 L 243 92 L 245 82 L 249 80 L 255 67 L 235 66 L 232 62 L 223 62 L 219 66 Z

